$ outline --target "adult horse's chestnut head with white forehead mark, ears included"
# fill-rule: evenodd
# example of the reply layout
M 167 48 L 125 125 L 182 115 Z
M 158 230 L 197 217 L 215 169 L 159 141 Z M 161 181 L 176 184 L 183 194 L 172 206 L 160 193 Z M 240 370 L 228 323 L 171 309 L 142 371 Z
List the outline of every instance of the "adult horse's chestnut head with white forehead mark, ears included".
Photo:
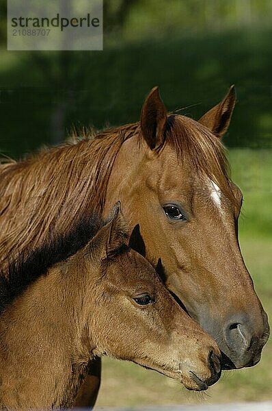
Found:
M 108 201 L 122 200 L 131 245 L 159 262 L 165 285 L 215 338 L 226 368 L 256 364 L 269 336 L 239 249 L 242 194 L 228 177 L 221 143 L 234 103 L 232 87 L 193 121 L 167 114 L 154 88 L 115 160 L 107 193 Z

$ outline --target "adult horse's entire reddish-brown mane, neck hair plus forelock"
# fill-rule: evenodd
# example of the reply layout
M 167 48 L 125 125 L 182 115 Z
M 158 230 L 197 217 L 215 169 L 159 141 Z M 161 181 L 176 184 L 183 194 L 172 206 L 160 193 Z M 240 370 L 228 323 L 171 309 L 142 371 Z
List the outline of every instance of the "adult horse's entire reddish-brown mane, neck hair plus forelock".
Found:
M 124 141 L 139 135 L 139 123 L 76 138 L 44 149 L 22 162 L 0 165 L 0 260 L 16 260 L 20 253 L 48 242 L 50 233 L 69 231 L 72 219 L 90 210 L 102 214 L 109 177 Z M 228 162 L 219 138 L 186 116 L 169 114 L 165 145 L 181 162 L 217 183 L 235 202 L 228 179 Z M 158 156 L 163 153 L 163 145 Z M 3 273 L 0 273 L 0 275 Z

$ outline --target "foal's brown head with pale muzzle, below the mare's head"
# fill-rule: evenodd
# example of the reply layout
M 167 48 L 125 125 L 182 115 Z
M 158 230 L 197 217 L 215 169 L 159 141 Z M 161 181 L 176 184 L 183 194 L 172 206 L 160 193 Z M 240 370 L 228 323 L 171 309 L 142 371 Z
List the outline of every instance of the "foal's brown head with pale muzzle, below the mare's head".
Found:
M 178 306 L 148 261 L 128 247 L 118 207 L 64 264 L 70 273 L 80 270 L 93 356 L 133 361 L 192 390 L 217 381 L 215 341 Z

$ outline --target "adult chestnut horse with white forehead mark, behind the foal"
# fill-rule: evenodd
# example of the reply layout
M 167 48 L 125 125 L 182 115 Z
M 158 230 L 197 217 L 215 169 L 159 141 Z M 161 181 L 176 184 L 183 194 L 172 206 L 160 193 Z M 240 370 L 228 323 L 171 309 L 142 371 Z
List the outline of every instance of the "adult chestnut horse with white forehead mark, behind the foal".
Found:
M 269 325 L 239 249 L 242 195 L 221 143 L 234 103 L 232 87 L 194 121 L 167 114 L 154 88 L 139 123 L 3 164 L 1 264 L 40 247 L 51 232 L 65 233 L 86 210 L 107 216 L 120 199 L 131 245 L 215 338 L 223 369 L 256 364 Z M 90 379 L 99 385 L 96 365 Z M 87 390 L 83 397 L 78 406 L 89 401 Z

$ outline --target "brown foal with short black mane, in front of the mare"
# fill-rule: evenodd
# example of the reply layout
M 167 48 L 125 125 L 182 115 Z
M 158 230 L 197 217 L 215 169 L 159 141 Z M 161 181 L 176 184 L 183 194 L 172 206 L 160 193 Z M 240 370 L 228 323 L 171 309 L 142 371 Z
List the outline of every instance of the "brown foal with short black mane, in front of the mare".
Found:
M 79 221 L 10 268 L 8 282 L 2 277 L 1 409 L 73 406 L 88 362 L 103 355 L 157 370 L 192 390 L 219 378 L 215 341 L 129 249 L 119 206 L 111 215 L 104 224 Z

